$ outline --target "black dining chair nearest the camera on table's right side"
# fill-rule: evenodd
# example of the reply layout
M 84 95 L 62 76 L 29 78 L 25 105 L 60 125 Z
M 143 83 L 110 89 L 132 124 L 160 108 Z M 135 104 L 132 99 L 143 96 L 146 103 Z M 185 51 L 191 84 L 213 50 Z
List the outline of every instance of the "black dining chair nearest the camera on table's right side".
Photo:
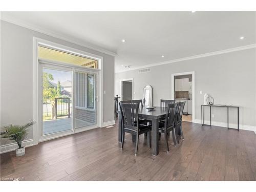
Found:
M 166 151 L 169 151 L 169 145 L 168 145 L 168 133 L 172 131 L 173 134 L 173 140 L 174 145 L 176 146 L 176 133 L 175 133 L 175 118 L 177 117 L 177 108 L 178 103 L 168 103 L 167 109 L 166 109 L 166 115 L 164 122 L 159 122 L 159 134 L 164 134 L 165 144 L 166 144 Z

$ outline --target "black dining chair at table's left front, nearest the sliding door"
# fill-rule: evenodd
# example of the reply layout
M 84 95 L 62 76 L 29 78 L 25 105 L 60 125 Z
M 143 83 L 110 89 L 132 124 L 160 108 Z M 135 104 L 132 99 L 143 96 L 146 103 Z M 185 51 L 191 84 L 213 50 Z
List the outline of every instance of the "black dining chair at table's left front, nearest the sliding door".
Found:
M 151 147 L 151 127 L 141 125 L 139 122 L 139 105 L 138 104 L 128 104 L 128 103 L 119 103 L 120 111 L 122 115 L 122 144 L 121 149 L 123 148 L 124 136 L 125 133 L 130 133 L 135 136 L 136 144 L 135 144 L 135 155 L 138 153 L 138 144 L 139 144 L 139 135 L 147 133 L 149 138 L 147 141 L 148 145 Z

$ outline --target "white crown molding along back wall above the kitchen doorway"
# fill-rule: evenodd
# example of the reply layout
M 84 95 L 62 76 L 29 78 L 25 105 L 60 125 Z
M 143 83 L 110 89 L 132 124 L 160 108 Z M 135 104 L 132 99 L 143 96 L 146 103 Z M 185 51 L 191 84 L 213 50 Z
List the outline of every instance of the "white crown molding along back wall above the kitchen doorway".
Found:
M 131 69 L 117 71 L 115 73 L 122 73 L 122 72 L 126 72 L 126 71 L 133 71 L 133 70 L 138 70 L 138 69 L 143 69 L 143 68 L 149 68 L 149 67 L 160 66 L 160 65 L 185 61 L 185 60 L 198 59 L 198 58 L 202 58 L 202 57 L 209 57 L 209 56 L 213 56 L 213 55 L 220 55 L 220 54 L 231 53 L 231 52 L 235 52 L 235 51 L 242 51 L 242 50 L 253 49 L 253 48 L 256 48 L 256 44 L 251 44 L 251 45 L 241 46 L 241 47 L 236 47 L 236 48 L 231 48 L 231 49 L 225 49 L 225 50 L 215 51 L 215 52 L 210 52 L 210 53 L 204 53 L 204 54 L 200 54 L 200 55 L 193 55 L 193 56 L 189 56 L 189 57 L 183 57 L 183 58 L 173 59 L 173 60 L 168 60 L 168 61 L 163 61 L 163 62 L 151 63 L 151 64 L 144 65 L 144 66 L 139 66 L 139 67 L 135 67 L 135 68 L 131 68 Z

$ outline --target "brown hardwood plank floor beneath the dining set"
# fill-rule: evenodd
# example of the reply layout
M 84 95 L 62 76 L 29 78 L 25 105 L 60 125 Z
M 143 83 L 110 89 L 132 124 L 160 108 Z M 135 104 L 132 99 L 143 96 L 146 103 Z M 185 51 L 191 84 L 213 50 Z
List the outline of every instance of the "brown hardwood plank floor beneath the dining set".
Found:
M 175 147 L 164 137 L 159 155 L 151 155 L 143 135 L 138 156 L 127 134 L 123 150 L 117 142 L 117 126 L 90 130 L 26 148 L 26 155 L 1 155 L 1 178 L 24 180 L 256 180 L 256 135 L 183 122 L 185 140 Z

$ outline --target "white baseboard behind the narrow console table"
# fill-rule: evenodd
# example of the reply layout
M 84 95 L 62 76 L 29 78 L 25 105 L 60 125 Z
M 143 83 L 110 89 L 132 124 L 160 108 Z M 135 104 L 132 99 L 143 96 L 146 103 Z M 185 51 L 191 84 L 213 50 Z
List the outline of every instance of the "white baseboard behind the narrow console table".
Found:
M 199 123 L 199 124 L 201 124 L 201 122 L 202 122 L 201 119 L 195 119 L 193 121 L 193 123 Z M 210 124 L 210 121 L 204 120 L 204 123 L 205 124 Z M 211 125 L 227 127 L 227 123 L 218 122 L 218 121 L 211 121 Z M 228 125 L 229 125 L 230 128 L 234 128 L 234 129 L 237 129 L 237 126 L 238 126 L 237 124 L 234 124 L 234 123 L 229 123 Z M 256 133 L 256 126 L 239 124 L 239 129 L 240 130 L 253 131 L 253 132 Z

